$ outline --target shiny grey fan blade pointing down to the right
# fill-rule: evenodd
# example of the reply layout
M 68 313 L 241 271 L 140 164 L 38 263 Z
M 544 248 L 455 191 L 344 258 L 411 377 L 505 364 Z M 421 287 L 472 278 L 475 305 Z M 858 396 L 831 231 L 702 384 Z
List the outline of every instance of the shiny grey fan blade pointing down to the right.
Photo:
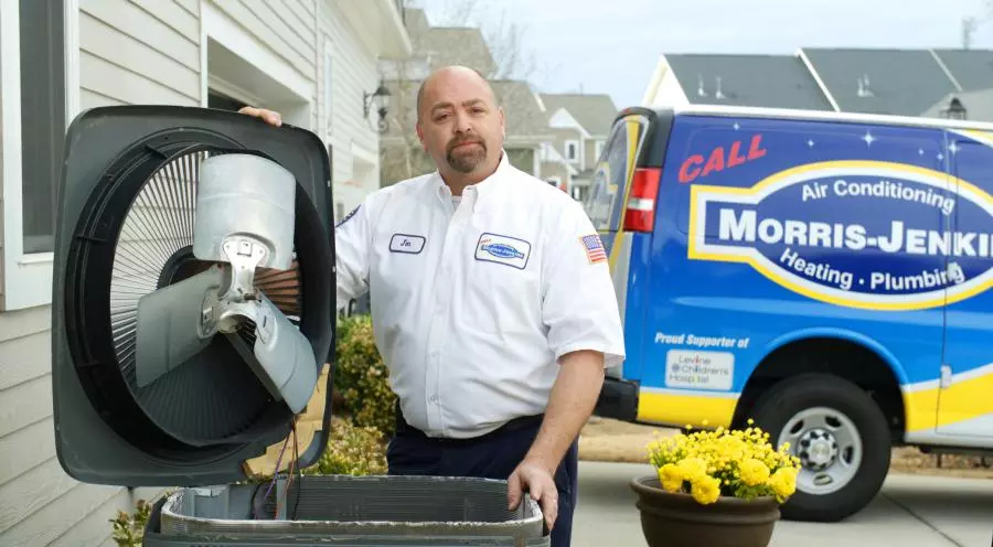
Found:
M 303 335 L 261 292 L 255 318 L 255 357 L 295 414 L 307 407 L 317 386 L 317 360 Z

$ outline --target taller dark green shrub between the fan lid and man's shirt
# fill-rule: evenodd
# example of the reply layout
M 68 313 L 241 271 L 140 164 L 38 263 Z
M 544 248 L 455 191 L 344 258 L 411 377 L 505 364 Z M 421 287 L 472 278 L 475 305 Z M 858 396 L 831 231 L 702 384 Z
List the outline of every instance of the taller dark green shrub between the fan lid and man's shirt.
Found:
M 395 429 L 396 394 L 389 372 L 376 348 L 372 319 L 351 315 L 338 324 L 334 388 L 359 427 L 373 427 L 389 437 Z

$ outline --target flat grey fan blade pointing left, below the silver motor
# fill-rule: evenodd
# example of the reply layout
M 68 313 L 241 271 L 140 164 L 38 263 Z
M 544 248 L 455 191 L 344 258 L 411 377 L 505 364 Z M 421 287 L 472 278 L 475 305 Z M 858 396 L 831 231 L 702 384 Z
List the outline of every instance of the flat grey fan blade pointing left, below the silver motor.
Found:
M 210 345 L 216 332 L 213 310 L 224 270 L 209 270 L 150 292 L 138 301 L 135 368 L 145 387 Z

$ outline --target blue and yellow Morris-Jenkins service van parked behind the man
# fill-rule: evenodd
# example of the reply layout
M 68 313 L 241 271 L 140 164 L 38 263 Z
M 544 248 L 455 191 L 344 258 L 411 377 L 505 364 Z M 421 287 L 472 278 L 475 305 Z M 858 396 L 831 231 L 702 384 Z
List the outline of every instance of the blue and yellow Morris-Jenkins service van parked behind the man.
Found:
M 623 110 L 585 202 L 628 351 L 596 414 L 754 418 L 794 519 L 859 511 L 891 447 L 993 453 L 991 193 L 993 125 Z

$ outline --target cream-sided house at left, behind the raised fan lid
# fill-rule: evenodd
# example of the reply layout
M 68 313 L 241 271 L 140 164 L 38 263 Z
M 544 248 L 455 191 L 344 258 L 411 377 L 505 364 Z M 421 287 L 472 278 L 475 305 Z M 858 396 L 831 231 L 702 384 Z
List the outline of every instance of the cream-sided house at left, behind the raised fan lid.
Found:
M 409 54 L 393 0 L 10 0 L 0 4 L 0 545 L 102 546 L 136 491 L 82 484 L 55 459 L 50 325 L 54 183 L 82 109 L 280 110 L 331 150 L 340 216 L 380 186 L 363 111 L 380 55 Z

